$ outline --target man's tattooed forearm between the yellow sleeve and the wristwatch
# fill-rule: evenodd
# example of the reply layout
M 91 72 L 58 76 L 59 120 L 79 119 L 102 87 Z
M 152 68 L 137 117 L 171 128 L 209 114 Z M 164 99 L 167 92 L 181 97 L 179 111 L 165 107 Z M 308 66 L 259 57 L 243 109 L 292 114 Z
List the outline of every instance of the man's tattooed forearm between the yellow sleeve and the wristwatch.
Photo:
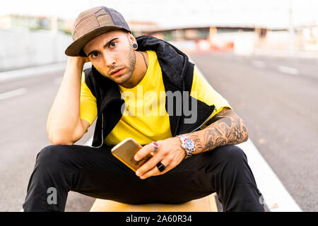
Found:
M 223 109 L 206 125 L 201 131 L 187 134 L 194 141 L 194 153 L 213 150 L 222 145 L 242 143 L 248 139 L 247 127 L 231 109 Z

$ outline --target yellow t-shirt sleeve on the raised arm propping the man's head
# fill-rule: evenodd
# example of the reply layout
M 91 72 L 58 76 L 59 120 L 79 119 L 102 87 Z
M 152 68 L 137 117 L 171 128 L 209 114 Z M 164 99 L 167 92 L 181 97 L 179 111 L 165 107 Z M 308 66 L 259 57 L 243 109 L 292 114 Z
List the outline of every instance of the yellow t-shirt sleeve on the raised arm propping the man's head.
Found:
M 96 119 L 98 111 L 96 105 L 96 98 L 90 91 L 85 82 L 84 72 L 82 73 L 81 81 L 81 105 L 80 105 L 81 119 L 88 121 L 91 125 Z M 87 131 L 86 131 L 87 132 Z

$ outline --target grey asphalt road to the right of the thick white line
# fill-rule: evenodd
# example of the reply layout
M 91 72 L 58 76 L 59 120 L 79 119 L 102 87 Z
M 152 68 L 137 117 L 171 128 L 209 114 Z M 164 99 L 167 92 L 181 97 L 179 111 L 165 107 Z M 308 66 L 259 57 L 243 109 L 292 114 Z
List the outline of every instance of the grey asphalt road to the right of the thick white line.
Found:
M 304 211 L 318 211 L 317 59 L 193 54 Z M 269 182 L 271 183 L 271 182 Z

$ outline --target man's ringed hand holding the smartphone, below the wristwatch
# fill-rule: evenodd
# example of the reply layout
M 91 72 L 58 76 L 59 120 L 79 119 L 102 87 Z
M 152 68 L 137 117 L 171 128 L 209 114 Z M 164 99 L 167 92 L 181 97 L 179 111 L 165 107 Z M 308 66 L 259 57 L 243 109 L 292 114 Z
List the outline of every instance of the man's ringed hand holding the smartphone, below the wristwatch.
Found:
M 146 179 L 147 177 L 157 176 L 168 172 L 170 169 L 177 166 L 185 157 L 185 152 L 181 147 L 181 141 L 177 137 L 167 138 L 163 141 L 157 141 L 159 144 L 158 150 L 153 154 L 150 160 L 144 163 L 137 171 L 136 175 L 141 179 Z M 153 153 L 153 145 L 144 145 L 135 155 L 135 160 L 139 161 L 148 153 Z M 161 162 L 165 165 L 165 170 L 160 172 L 157 164 Z

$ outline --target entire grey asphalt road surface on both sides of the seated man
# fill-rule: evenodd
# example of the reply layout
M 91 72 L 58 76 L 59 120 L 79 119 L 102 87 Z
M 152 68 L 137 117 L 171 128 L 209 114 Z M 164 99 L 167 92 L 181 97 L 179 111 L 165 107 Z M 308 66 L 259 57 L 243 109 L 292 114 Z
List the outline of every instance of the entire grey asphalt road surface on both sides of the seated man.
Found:
M 191 57 L 245 121 L 249 138 L 300 208 L 318 211 L 317 60 Z M 55 71 L 0 83 L 0 211 L 22 208 L 35 157 L 50 144 L 45 124 L 62 76 Z M 1 99 L 12 90 L 20 95 Z M 77 144 L 86 143 L 93 127 Z M 70 192 L 66 211 L 88 211 L 93 201 Z

